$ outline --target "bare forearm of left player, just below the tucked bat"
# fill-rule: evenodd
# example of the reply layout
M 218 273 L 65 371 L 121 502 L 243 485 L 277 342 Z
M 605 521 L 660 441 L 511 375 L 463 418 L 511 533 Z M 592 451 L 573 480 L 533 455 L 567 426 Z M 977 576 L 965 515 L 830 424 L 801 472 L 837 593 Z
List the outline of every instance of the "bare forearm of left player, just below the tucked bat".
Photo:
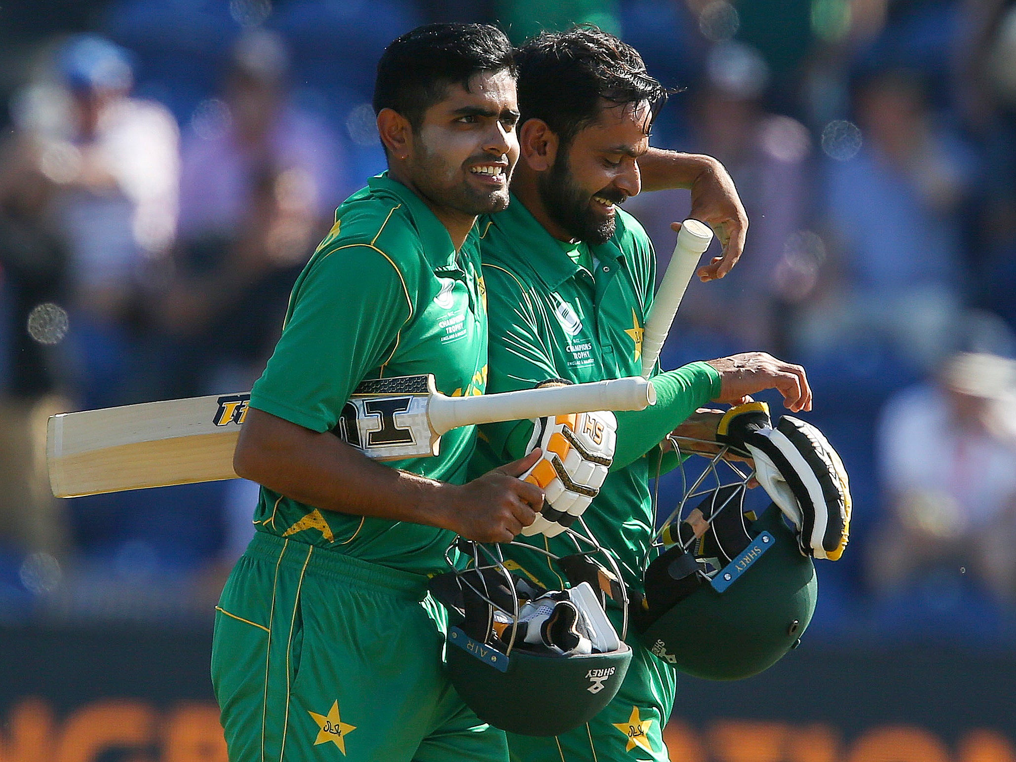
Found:
M 237 473 L 316 508 L 450 528 L 454 486 L 375 462 L 330 432 L 250 408 L 234 456 Z

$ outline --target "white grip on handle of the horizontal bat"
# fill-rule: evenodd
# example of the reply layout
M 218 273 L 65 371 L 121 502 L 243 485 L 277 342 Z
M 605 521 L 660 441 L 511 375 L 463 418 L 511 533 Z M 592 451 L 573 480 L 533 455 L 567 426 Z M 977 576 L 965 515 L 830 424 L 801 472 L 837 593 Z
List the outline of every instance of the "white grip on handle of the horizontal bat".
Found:
M 589 410 L 641 410 L 655 403 L 656 391 L 652 383 L 641 376 L 631 376 L 475 397 L 435 394 L 428 404 L 427 417 L 431 429 L 440 435 L 459 426 Z

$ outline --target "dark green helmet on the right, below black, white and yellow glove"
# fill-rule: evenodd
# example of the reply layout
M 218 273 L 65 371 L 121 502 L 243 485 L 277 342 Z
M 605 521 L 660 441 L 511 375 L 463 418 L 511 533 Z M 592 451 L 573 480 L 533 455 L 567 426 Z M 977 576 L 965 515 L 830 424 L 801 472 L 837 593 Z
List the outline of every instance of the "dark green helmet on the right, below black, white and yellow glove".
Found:
M 721 448 L 701 475 L 686 475 L 693 484 L 659 530 L 661 553 L 632 604 L 646 647 L 706 680 L 751 677 L 782 658 L 800 643 L 818 594 L 796 532 L 775 504 L 746 506 L 753 471 L 726 454 Z

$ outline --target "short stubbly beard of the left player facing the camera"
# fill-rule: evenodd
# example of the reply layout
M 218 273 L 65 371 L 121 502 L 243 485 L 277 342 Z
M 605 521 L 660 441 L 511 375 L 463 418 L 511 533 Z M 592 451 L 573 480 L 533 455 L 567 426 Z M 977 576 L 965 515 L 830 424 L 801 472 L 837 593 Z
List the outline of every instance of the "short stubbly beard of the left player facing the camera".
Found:
M 471 156 L 466 166 L 490 163 L 490 154 Z M 478 188 L 469 183 L 463 165 L 453 167 L 437 152 L 420 144 L 414 156 L 414 185 L 437 206 L 454 209 L 463 214 L 491 214 L 508 207 L 508 182 L 513 167 L 505 169 L 505 182 L 500 188 Z M 464 177 L 463 177 L 464 173 Z

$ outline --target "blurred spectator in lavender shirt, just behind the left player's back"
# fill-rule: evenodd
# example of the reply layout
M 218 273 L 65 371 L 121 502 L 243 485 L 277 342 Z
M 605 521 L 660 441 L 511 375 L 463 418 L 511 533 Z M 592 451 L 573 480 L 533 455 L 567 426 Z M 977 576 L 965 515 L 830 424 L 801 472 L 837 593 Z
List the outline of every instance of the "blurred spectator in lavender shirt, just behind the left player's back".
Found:
M 169 369 L 172 394 L 250 388 L 293 281 L 342 200 L 335 137 L 289 102 L 287 72 L 277 37 L 242 38 L 223 100 L 205 101 L 185 134 L 164 310 L 183 353 Z

